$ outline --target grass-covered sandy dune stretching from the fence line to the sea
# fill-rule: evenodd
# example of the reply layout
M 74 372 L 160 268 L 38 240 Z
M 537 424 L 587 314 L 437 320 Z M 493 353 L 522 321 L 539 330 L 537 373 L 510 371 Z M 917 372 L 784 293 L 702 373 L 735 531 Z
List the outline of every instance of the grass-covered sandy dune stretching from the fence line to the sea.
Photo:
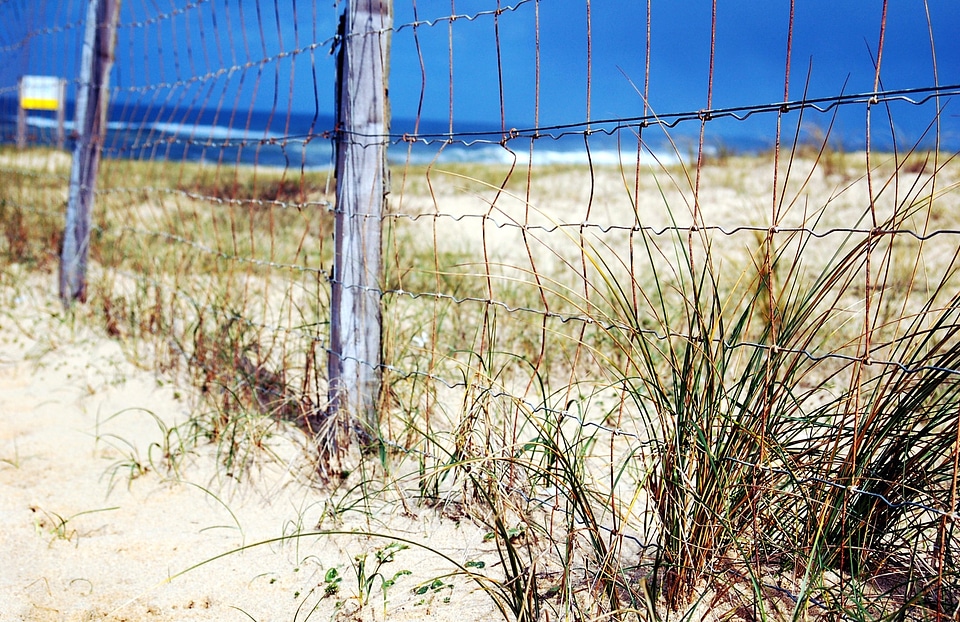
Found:
M 8 266 L 56 269 L 51 154 L 0 151 Z M 950 619 L 960 169 L 867 161 L 392 171 L 376 451 L 314 485 L 483 525 L 496 563 L 453 572 L 507 619 Z M 116 160 L 99 183 L 72 313 L 195 388 L 153 468 L 209 443 L 242 479 L 279 429 L 309 438 L 331 180 Z M 383 555 L 353 566 L 361 606 Z

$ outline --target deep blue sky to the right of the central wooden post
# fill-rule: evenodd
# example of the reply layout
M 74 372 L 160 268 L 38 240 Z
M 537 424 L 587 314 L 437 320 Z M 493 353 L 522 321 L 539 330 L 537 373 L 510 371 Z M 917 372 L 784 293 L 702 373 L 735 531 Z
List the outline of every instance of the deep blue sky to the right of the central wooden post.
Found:
M 446 3 L 426 3 L 421 19 L 449 13 Z M 457 9 L 489 9 L 490 2 L 458 2 Z M 887 17 L 883 87 L 934 83 L 922 0 L 893 0 Z M 397 21 L 412 19 L 397 4 Z M 442 7 L 442 8 L 441 8 Z M 507 124 L 532 121 L 535 83 L 535 7 L 523 5 L 500 17 Z M 939 81 L 960 83 L 960 11 L 955 0 L 929 3 Z M 809 73 L 810 97 L 871 91 L 880 32 L 880 1 L 801 0 L 794 15 L 790 97 L 800 99 Z M 540 18 L 540 120 L 576 122 L 587 110 L 586 8 L 582 1 L 544 0 Z M 652 5 L 650 105 L 657 113 L 707 105 L 711 4 L 656 1 Z M 780 101 L 784 91 L 789 2 L 720 2 L 717 10 L 713 106 Z M 421 29 L 427 65 L 425 116 L 445 118 L 449 64 L 446 25 Z M 442 30 L 442 32 L 437 32 Z M 646 63 L 646 3 L 591 3 L 591 106 L 593 119 L 642 114 Z M 412 33 L 394 40 L 391 88 L 397 116 L 408 116 L 419 98 L 420 72 Z M 455 22 L 455 116 L 498 120 L 496 39 L 492 18 Z

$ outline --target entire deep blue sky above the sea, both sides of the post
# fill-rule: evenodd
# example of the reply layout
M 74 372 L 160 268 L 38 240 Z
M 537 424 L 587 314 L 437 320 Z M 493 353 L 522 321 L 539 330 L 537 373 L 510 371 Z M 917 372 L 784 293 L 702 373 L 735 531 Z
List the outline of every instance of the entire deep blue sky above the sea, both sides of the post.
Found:
M 660 114 L 707 105 L 711 3 L 651 0 L 650 105 Z M 0 6 L 7 24 L 0 49 L 13 62 L 2 85 L 21 73 L 73 75 L 84 2 L 12 0 Z M 451 5 L 455 125 L 535 119 L 539 19 L 541 125 L 576 123 L 587 115 L 587 3 L 584 0 L 395 0 L 391 101 L 395 119 L 446 120 L 450 109 Z M 882 65 L 883 87 L 934 84 L 927 11 L 940 84 L 960 83 L 960 11 L 956 0 L 890 0 Z M 590 117 L 643 113 L 646 3 L 590 3 Z M 790 98 L 870 91 L 880 32 L 881 0 L 798 0 L 794 17 Z M 114 84 L 119 98 L 170 109 L 251 109 L 330 114 L 330 38 L 342 6 L 333 0 L 125 0 Z M 414 9 L 416 7 L 416 11 Z M 478 15 L 480 14 L 480 15 Z M 538 17 L 539 14 L 539 17 Z M 417 28 L 403 26 L 416 20 Z M 783 98 L 789 2 L 721 0 L 717 8 L 713 107 Z M 431 22 L 431 24 L 426 23 Z M 9 49 L 32 32 L 28 45 Z M 497 45 L 499 36 L 499 47 Z M 311 44 L 315 47 L 311 49 Z M 417 52 L 417 44 L 420 53 Z M 499 49 L 499 69 L 498 69 Z M 266 64 L 260 59 L 298 51 Z M 423 73 L 421 73 L 421 61 Z M 222 67 L 233 71 L 215 75 Z M 503 76 L 501 81 L 500 75 Z M 202 79 L 200 79 L 202 78 Z M 12 81 L 12 82 L 11 82 Z M 161 86 L 161 85 L 169 85 Z M 422 96 L 422 97 L 421 97 Z M 945 120 L 960 124 L 956 104 Z M 917 127 L 932 113 L 905 123 Z M 219 122 L 219 121 L 218 121 Z M 226 122 L 225 120 L 222 122 Z M 236 121 L 235 121 L 236 123 Z

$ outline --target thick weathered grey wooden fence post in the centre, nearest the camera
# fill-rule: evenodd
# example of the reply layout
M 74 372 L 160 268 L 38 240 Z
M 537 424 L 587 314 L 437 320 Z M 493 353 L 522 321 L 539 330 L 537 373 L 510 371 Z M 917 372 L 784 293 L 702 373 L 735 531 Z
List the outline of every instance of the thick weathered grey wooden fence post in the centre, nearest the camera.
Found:
M 337 207 L 331 278 L 329 405 L 334 428 L 375 438 L 380 396 L 380 235 L 389 131 L 390 0 L 350 0 L 338 75 Z

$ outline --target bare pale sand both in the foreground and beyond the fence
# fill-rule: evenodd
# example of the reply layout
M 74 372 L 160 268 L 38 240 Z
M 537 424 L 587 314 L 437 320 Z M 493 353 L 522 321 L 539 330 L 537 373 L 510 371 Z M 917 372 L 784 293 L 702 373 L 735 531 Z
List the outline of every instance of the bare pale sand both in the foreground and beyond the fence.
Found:
M 748 159 L 705 170 L 701 218 L 732 232 L 716 235 L 714 248 L 729 266 L 725 274 L 736 279 L 755 270 L 757 231 L 765 235 L 772 224 L 865 226 L 862 176 L 818 169 L 808 177 L 802 168 L 796 163 L 775 222 L 768 215 L 770 162 Z M 662 194 L 645 178 L 638 205 L 644 226 L 657 230 L 690 220 L 691 193 L 683 180 L 665 177 Z M 930 222 L 905 227 L 955 228 L 955 168 L 942 177 L 938 188 L 948 190 Z M 509 269 L 522 275 L 536 261 L 544 273 L 552 266 L 576 276 L 582 258 L 571 236 L 581 229 L 598 256 L 626 266 L 636 241 L 622 229 L 634 222 L 623 180 L 606 171 L 596 182 L 577 183 L 563 171 L 549 175 L 531 189 L 530 205 L 550 210 L 528 211 L 525 199 L 495 200 L 495 188 L 465 190 L 462 179 L 451 177 L 437 184 L 433 198 L 422 191 L 408 197 L 404 222 L 411 237 L 489 255 L 511 275 Z M 892 188 L 877 201 L 879 211 L 911 205 L 929 191 L 919 182 Z M 589 227 L 557 226 L 587 221 Z M 521 223 L 531 227 L 529 240 Z M 672 244 L 673 235 L 665 229 L 654 237 Z M 803 261 L 816 267 L 835 238 L 811 241 Z M 913 259 L 916 244 L 904 239 L 898 243 L 911 266 L 944 273 L 953 236 L 926 240 L 922 262 Z M 913 289 L 917 272 L 926 277 L 920 268 L 909 272 Z M 192 449 L 174 471 L 164 468 L 164 441 L 175 439 L 166 432 L 195 412 L 189 384 L 138 367 L 131 362 L 137 357 L 116 341 L 64 318 L 54 276 L 31 279 L 9 267 L 0 271 L 0 622 L 500 617 L 488 595 L 462 576 L 451 578 L 454 567 L 421 548 L 460 564 L 483 562 L 482 572 L 501 578 L 485 530 L 400 503 L 399 487 L 370 495 L 378 499 L 374 505 L 358 503 L 356 476 L 338 489 L 318 486 L 309 477 L 306 439 L 295 431 L 267 434 L 239 481 L 228 476 L 216 445 Z M 344 533 L 296 537 L 318 528 Z M 409 541 L 409 549 L 381 568 L 383 578 L 396 579 L 386 603 L 379 579 L 362 589 L 357 559 L 366 555 L 369 576 L 376 553 L 391 540 L 358 532 Z M 255 546 L 264 541 L 271 542 Z M 228 554 L 242 547 L 248 548 Z

